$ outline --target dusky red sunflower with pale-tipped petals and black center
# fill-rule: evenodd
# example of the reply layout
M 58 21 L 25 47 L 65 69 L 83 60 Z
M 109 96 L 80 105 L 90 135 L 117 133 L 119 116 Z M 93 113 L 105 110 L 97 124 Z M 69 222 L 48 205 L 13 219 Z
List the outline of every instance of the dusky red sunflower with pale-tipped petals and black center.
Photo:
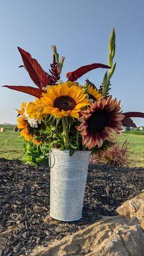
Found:
M 77 127 L 83 138 L 83 145 L 91 149 L 102 146 L 105 140 L 113 140 L 115 135 L 122 134 L 122 120 L 124 115 L 120 108 L 120 101 L 100 98 L 90 104 L 86 111 L 81 112 L 81 124 Z

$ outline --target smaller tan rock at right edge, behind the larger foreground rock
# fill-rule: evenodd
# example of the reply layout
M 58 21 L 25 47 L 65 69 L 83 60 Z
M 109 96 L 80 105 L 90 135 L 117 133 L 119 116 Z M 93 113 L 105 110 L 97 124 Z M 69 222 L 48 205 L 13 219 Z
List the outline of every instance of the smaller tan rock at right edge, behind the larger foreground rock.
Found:
M 116 209 L 116 212 L 128 218 L 136 216 L 140 221 L 141 228 L 144 230 L 144 191 L 141 191 L 138 196 L 131 200 L 125 201 Z

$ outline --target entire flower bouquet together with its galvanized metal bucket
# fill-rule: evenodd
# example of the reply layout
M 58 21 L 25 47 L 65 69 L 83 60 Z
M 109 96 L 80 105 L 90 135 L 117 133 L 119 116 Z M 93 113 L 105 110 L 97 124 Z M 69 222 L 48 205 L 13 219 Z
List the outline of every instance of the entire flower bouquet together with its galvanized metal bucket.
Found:
M 122 125 L 135 127 L 131 117 L 144 117 L 143 113 L 122 113 L 120 101 L 109 94 L 110 79 L 115 71 L 115 29 L 109 38 L 108 65 L 93 63 L 67 73 L 67 81 L 60 80 L 64 57 L 59 60 L 56 46 L 52 45 L 53 62 L 49 74 L 38 61 L 20 49 L 24 67 L 38 86 L 4 87 L 36 97 L 23 102 L 17 109 L 17 127 L 26 141 L 35 145 L 49 145 L 51 168 L 50 215 L 63 221 L 81 218 L 84 189 L 91 152 L 112 147 L 116 135 L 122 134 Z M 86 79 L 77 82 L 95 68 L 108 68 L 99 88 Z

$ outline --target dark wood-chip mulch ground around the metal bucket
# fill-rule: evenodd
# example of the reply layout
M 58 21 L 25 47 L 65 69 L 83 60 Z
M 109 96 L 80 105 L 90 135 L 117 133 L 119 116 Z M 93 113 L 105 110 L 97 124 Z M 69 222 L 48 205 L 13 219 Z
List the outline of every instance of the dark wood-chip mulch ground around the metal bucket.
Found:
M 15 228 L 3 247 L 2 255 L 8 256 L 29 255 L 35 246 L 61 239 L 101 216 L 113 216 L 118 205 L 144 189 L 143 168 L 90 166 L 83 218 L 44 223 L 49 214 L 49 170 L 0 159 L 0 173 L 0 235 Z

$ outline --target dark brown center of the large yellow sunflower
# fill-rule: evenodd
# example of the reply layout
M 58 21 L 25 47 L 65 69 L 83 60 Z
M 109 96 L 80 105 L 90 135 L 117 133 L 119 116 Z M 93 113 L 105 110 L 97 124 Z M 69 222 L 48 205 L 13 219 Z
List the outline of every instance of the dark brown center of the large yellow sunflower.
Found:
M 76 102 L 70 96 L 60 96 L 54 100 L 54 108 L 61 110 L 72 110 L 76 107 Z

